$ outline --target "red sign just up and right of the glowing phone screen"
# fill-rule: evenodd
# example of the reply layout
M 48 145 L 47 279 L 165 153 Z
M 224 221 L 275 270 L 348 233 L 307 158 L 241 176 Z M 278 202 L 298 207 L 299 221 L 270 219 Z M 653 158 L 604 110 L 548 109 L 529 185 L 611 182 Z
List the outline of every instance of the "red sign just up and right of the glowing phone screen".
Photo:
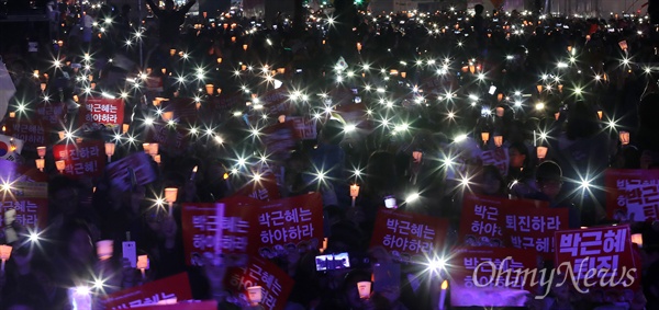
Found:
M 447 227 L 446 219 L 381 208 L 370 246 L 383 246 L 396 261 L 410 262 L 439 250 Z

